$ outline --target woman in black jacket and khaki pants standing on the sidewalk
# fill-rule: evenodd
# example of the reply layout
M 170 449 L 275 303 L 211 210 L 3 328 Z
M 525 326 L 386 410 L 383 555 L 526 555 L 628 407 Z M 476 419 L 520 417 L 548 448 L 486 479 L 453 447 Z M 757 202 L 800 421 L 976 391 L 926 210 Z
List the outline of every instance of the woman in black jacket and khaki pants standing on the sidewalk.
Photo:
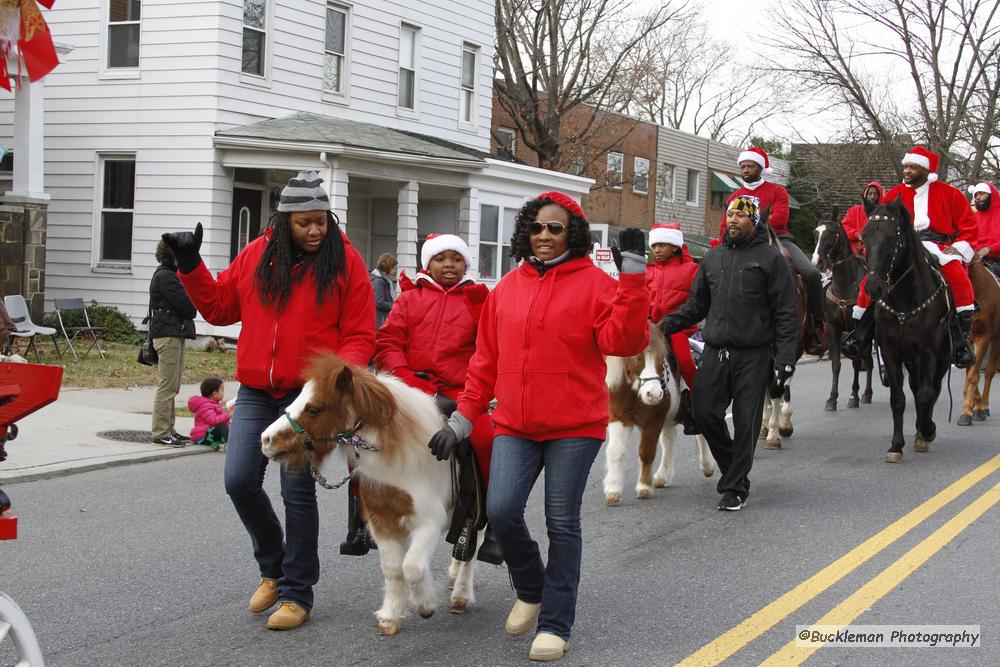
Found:
M 194 338 L 194 316 L 198 312 L 177 279 L 177 260 L 163 240 L 156 244 L 160 263 L 149 281 L 149 333 L 156 350 L 156 375 L 160 378 L 153 399 L 153 443 L 183 447 L 191 441 L 174 430 L 174 399 L 181 390 L 184 372 L 184 341 Z

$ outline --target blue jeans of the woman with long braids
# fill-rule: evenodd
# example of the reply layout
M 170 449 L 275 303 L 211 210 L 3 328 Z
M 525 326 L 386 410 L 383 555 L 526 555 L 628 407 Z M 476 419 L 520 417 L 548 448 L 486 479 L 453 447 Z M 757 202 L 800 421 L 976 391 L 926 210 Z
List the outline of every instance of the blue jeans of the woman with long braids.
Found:
M 262 488 L 268 459 L 260 451 L 260 434 L 284 414 L 298 393 L 276 399 L 265 391 L 240 387 L 229 430 L 224 477 L 226 493 L 250 533 L 260 576 L 278 580 L 280 599 L 312 609 L 312 587 L 319 581 L 316 483 L 308 469 L 281 467 L 284 537 L 271 500 Z

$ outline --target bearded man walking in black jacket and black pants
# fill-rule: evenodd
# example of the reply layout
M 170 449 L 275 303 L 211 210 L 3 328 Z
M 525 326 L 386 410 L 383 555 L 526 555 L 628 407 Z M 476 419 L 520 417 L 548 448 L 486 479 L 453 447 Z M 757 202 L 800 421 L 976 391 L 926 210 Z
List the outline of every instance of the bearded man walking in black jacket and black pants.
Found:
M 771 344 L 777 343 L 775 371 L 784 382 L 795 371 L 798 339 L 791 269 L 768 244 L 756 197 L 729 203 L 723 244 L 705 255 L 687 302 L 660 326 L 670 336 L 702 319 L 705 350 L 694 379 L 694 416 L 722 472 L 719 509 L 736 511 L 750 492 Z M 726 426 L 730 401 L 732 436 Z

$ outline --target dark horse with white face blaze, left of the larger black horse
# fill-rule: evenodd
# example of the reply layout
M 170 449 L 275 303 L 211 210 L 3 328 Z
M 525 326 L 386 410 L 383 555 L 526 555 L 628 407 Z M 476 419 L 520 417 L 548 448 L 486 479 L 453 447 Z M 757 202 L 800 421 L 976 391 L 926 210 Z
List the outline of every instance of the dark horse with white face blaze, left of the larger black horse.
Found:
M 844 228 L 837 222 L 837 211 L 833 218 L 820 223 L 816 228 L 816 250 L 813 252 L 813 264 L 820 271 L 830 271 L 831 281 L 826 286 L 823 300 L 823 314 L 829 329 L 830 370 L 833 372 L 833 385 L 830 387 L 830 398 L 826 400 L 826 410 L 837 409 L 837 398 L 840 395 L 840 339 L 845 331 L 854 328 L 855 320 L 851 316 L 854 304 L 858 302 L 858 289 L 861 279 L 868 270 L 864 261 L 851 250 L 851 242 Z M 869 343 L 861 351 L 859 359 L 852 360 L 854 364 L 854 382 L 851 384 L 851 395 L 847 399 L 847 407 L 856 408 L 861 403 L 872 402 L 872 346 Z M 859 379 L 861 371 L 866 373 L 865 393 L 860 397 Z

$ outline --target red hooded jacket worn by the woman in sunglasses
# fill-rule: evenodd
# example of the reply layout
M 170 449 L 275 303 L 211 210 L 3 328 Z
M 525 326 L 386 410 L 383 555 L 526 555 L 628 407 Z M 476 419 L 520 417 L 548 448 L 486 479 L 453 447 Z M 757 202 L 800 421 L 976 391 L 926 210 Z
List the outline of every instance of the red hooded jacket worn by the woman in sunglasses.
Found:
M 542 276 L 522 262 L 486 299 L 459 412 L 475 422 L 496 396 L 497 435 L 604 440 L 604 355 L 631 356 L 649 344 L 645 282 L 642 274 L 616 281 L 589 257 Z

